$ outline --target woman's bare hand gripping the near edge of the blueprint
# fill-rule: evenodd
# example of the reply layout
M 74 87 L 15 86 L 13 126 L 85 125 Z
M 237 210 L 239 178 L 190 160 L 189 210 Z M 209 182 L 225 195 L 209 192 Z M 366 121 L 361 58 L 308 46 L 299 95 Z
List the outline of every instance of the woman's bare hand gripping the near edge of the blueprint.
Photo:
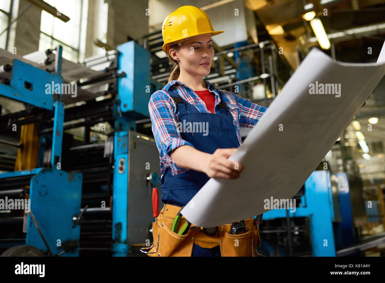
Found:
M 236 150 L 237 148 L 218 148 L 213 154 L 208 154 L 203 165 L 204 173 L 210 178 L 239 178 L 243 167 L 238 162 L 227 159 Z

